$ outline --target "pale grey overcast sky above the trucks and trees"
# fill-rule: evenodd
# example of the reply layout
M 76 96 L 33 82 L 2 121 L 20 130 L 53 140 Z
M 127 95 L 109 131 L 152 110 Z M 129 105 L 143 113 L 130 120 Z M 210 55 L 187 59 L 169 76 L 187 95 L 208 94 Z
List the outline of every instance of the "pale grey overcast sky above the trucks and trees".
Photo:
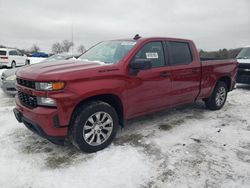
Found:
M 50 51 L 142 36 L 181 37 L 204 50 L 250 45 L 250 0 L 0 0 L 0 44 Z

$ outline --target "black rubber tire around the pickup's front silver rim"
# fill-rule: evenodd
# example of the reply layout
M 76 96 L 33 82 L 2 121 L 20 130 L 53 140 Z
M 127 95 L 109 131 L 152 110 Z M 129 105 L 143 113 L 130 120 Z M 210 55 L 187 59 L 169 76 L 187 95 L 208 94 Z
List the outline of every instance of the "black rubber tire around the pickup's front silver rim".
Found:
M 89 126 L 87 123 L 90 122 L 89 118 L 91 118 L 91 117 L 93 118 L 93 116 L 99 112 L 103 112 L 105 114 L 108 114 L 109 118 L 112 118 L 113 128 L 110 131 L 109 137 L 107 137 L 106 140 L 104 139 L 104 137 L 102 138 L 103 143 L 101 143 L 99 145 L 91 145 L 90 143 L 87 142 L 88 140 L 85 138 L 88 133 L 84 134 L 83 131 L 86 131 L 86 130 L 84 130 L 84 127 L 85 128 L 86 127 L 96 127 L 96 125 Z M 99 119 L 100 119 L 100 117 L 99 117 Z M 97 118 L 96 118 L 96 120 L 97 120 Z M 96 151 L 99 151 L 99 150 L 106 148 L 107 146 L 109 146 L 111 144 L 111 142 L 113 141 L 113 139 L 117 133 L 118 127 L 119 127 L 118 122 L 119 121 L 118 121 L 117 113 L 112 106 L 110 106 L 108 103 L 105 103 L 102 101 L 90 101 L 90 102 L 87 102 L 87 103 L 83 104 L 82 106 L 80 106 L 74 112 L 72 122 L 70 125 L 69 138 L 70 138 L 72 144 L 75 145 L 81 151 L 86 152 L 86 153 L 96 152 Z M 95 128 L 91 128 L 90 130 L 96 132 Z M 103 129 L 103 131 L 104 131 L 104 129 Z M 96 142 L 97 142 L 97 137 L 99 137 L 99 139 L 100 139 L 101 133 L 99 132 L 99 133 L 93 133 L 93 134 L 94 134 L 93 137 L 95 137 L 94 140 L 96 140 Z M 99 136 L 97 134 L 99 134 Z M 90 140 L 93 137 L 90 137 Z

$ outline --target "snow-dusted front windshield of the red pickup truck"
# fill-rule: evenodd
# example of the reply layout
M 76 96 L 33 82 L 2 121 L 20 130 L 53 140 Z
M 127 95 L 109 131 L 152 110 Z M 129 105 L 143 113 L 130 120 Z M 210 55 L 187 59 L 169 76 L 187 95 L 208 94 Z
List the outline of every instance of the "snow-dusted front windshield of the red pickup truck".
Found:
M 106 64 L 115 64 L 123 59 L 135 46 L 131 41 L 105 41 L 90 48 L 78 59 L 85 61 L 97 61 Z

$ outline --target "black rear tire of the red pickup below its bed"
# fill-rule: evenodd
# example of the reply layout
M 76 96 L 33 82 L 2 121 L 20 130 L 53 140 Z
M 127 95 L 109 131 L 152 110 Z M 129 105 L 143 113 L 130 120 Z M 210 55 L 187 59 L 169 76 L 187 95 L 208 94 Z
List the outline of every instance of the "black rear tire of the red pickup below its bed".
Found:
M 221 99 L 221 100 L 219 100 L 220 102 L 216 102 L 217 97 L 218 97 L 218 95 L 220 95 L 221 91 L 225 91 L 224 98 L 222 99 L 222 97 L 219 97 L 219 99 Z M 227 88 L 226 83 L 218 81 L 215 88 L 214 88 L 212 95 L 209 98 L 204 100 L 206 107 L 210 110 L 221 109 L 227 100 L 227 92 L 228 92 L 228 88 Z

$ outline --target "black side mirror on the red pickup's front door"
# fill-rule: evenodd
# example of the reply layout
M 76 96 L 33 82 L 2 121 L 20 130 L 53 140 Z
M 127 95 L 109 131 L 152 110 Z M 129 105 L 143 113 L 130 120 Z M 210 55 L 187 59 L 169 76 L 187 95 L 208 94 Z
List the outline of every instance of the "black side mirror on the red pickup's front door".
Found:
M 129 67 L 131 68 L 130 74 L 137 75 L 141 70 L 151 69 L 152 63 L 150 59 L 136 59 L 130 63 Z

